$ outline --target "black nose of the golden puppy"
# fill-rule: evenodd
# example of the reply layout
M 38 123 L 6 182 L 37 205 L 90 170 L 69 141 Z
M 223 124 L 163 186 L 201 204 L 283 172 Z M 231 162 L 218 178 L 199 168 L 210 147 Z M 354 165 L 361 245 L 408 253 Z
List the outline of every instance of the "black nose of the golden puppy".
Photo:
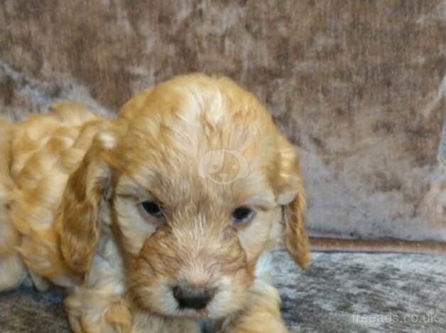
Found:
M 195 310 L 204 309 L 214 297 L 214 290 L 207 288 L 175 286 L 172 288 L 172 293 L 180 307 Z

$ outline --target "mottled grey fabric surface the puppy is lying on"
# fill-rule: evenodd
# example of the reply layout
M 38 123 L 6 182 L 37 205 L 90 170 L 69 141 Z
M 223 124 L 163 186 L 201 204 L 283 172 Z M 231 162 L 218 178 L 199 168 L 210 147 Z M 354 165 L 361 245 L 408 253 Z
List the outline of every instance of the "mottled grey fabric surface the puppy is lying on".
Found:
M 275 256 L 291 332 L 446 332 L 446 256 L 313 253 L 305 272 Z M 0 293 L 0 332 L 69 332 L 62 295 Z

